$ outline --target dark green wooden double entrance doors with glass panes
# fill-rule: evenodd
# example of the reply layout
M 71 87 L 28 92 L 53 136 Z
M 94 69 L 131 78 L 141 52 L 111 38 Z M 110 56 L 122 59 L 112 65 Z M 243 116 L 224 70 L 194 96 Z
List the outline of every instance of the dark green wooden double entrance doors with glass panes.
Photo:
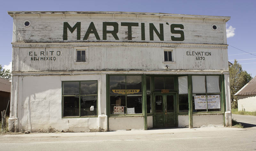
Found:
M 175 99 L 173 94 L 155 94 L 154 123 L 156 128 L 176 126 Z

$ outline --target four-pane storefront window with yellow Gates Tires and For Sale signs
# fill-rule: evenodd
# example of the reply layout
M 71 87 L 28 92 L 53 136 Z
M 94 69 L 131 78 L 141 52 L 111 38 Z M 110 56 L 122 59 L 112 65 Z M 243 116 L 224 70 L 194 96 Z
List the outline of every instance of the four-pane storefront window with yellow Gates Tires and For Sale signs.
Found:
M 142 76 L 109 76 L 110 114 L 142 114 Z

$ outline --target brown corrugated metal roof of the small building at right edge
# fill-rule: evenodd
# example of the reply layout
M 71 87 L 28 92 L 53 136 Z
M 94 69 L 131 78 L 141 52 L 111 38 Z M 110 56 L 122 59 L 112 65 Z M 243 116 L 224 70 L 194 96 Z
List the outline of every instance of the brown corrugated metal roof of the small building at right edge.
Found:
M 256 76 L 242 87 L 235 95 L 256 95 Z

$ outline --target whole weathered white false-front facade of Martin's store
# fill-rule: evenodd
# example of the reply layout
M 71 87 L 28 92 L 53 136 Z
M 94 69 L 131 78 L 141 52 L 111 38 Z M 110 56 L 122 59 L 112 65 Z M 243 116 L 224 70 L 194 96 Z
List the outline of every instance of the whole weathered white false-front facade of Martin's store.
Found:
M 231 124 L 230 17 L 8 11 L 9 129 L 115 131 Z

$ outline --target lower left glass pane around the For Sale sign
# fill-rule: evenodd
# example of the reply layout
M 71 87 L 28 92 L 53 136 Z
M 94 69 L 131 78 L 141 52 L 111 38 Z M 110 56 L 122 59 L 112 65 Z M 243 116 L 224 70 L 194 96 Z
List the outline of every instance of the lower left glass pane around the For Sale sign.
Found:
M 110 96 L 110 114 L 114 113 L 114 107 L 124 107 L 121 109 L 124 109 L 124 113 L 126 114 L 126 108 L 125 108 L 125 95 L 118 95 L 118 96 Z

